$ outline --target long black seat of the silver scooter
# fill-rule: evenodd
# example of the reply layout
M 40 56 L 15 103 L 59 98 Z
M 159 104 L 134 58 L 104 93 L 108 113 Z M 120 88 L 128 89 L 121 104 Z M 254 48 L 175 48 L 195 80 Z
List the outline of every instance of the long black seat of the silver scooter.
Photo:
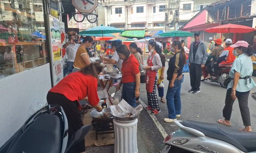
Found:
M 256 133 L 240 131 L 212 123 L 184 120 L 181 122 L 185 127 L 196 129 L 207 137 L 228 142 L 244 152 L 256 151 Z

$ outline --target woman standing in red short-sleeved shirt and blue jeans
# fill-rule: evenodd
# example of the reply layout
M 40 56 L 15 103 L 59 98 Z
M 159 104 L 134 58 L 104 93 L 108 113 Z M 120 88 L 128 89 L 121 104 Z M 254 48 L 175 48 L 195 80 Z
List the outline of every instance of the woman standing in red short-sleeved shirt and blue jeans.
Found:
M 122 83 L 122 99 L 132 107 L 136 107 L 136 98 L 140 96 L 140 71 L 138 60 L 130 53 L 126 45 L 120 45 L 116 52 L 122 62 L 122 79 L 117 86 L 120 89 Z

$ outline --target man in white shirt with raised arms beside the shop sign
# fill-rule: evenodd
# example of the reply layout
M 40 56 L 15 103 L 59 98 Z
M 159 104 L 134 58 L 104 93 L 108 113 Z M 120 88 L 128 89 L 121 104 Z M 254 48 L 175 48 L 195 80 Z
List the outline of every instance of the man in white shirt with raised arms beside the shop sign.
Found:
M 66 50 L 67 50 L 67 66 L 63 72 L 64 77 L 67 73 L 72 72 L 72 67 L 73 67 L 73 64 L 75 61 L 75 57 L 76 57 L 76 51 L 79 46 L 80 46 L 80 44 L 75 43 L 75 37 L 73 35 L 70 35 L 69 42 L 67 42 L 66 44 L 64 44 L 62 46 L 63 48 L 66 48 Z

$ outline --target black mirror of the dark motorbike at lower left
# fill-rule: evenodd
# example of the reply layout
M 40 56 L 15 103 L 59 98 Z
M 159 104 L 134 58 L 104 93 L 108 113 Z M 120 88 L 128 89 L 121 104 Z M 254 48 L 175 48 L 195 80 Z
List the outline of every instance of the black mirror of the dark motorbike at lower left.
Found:
M 74 145 L 77 144 L 78 142 L 80 142 L 83 138 L 85 138 L 85 136 L 87 135 L 87 133 L 90 131 L 91 129 L 91 125 L 85 125 L 82 126 L 78 131 L 76 131 L 75 133 L 73 133 L 72 138 L 70 140 L 69 146 L 67 148 L 67 150 L 65 151 L 65 153 L 67 153 L 67 151 L 69 151 L 69 149 Z

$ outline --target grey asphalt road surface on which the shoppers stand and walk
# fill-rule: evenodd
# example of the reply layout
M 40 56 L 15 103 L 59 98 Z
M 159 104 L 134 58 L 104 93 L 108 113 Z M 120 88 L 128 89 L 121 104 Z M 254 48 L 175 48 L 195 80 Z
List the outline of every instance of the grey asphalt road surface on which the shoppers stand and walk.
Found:
M 167 69 L 168 63 L 166 62 L 164 81 L 165 95 L 168 86 L 168 81 L 166 80 Z M 256 81 L 255 77 L 253 79 Z M 178 120 L 217 123 L 216 120 L 223 118 L 222 110 L 225 105 L 226 89 L 220 87 L 217 83 L 211 83 L 209 81 L 201 82 L 200 93 L 198 94 L 189 93 L 188 90 L 190 89 L 189 73 L 184 73 L 184 82 L 182 83 L 181 88 L 182 111 Z M 256 92 L 256 88 L 252 89 L 251 93 L 252 92 Z M 147 105 L 145 83 L 140 85 L 140 99 Z M 167 104 L 161 103 L 160 97 L 158 98 L 158 101 L 161 112 L 158 115 L 155 115 L 157 120 L 154 120 L 154 118 L 152 119 L 146 110 L 143 110 L 138 118 L 138 134 L 141 136 L 142 144 L 145 146 L 148 153 L 159 153 L 164 146 L 162 133 L 170 133 L 178 128 L 174 123 L 166 123 L 163 121 L 164 118 L 168 117 Z M 256 101 L 249 96 L 248 103 L 252 128 L 253 131 L 256 131 Z M 159 122 L 160 125 L 157 125 L 155 122 Z M 239 129 L 244 127 L 238 107 L 238 101 L 235 101 L 233 105 L 231 122 L 232 127 L 230 128 Z M 161 127 L 163 127 L 163 129 L 161 129 Z

